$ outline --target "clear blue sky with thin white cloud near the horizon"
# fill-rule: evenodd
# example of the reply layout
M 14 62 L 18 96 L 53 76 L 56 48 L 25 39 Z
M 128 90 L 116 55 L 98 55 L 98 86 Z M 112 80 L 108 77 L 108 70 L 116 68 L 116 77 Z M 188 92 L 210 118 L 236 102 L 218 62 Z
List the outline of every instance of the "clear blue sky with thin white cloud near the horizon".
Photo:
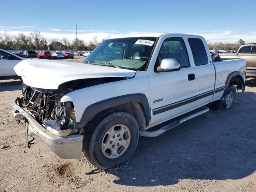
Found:
M 256 42 L 256 0 L 2 0 L 0 35 L 38 30 L 48 40 L 89 42 L 123 34 L 202 35 L 210 42 Z

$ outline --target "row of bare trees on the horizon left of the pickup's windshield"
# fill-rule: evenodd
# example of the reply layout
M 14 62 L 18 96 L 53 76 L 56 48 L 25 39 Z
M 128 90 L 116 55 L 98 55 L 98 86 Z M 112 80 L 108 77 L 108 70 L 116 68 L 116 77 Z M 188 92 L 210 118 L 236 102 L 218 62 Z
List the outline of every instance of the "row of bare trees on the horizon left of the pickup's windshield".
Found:
M 84 40 L 74 38 L 71 42 L 67 38 L 62 38 L 60 41 L 52 39 L 49 42 L 42 36 L 38 30 L 34 30 L 28 36 L 24 33 L 11 36 L 4 31 L 0 35 L 0 48 L 4 50 L 94 50 L 102 41 L 110 38 L 110 35 L 101 41 L 97 36 L 94 36 L 89 44 Z

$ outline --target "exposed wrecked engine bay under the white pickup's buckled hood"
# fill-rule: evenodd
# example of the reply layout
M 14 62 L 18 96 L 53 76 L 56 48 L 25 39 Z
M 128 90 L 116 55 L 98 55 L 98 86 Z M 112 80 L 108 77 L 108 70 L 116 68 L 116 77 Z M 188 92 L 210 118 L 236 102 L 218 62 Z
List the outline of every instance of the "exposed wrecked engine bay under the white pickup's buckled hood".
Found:
M 20 104 L 38 122 L 56 121 L 66 130 L 74 127 L 76 117 L 72 102 L 60 102 L 62 96 L 64 93 L 57 90 L 39 90 L 24 84 Z

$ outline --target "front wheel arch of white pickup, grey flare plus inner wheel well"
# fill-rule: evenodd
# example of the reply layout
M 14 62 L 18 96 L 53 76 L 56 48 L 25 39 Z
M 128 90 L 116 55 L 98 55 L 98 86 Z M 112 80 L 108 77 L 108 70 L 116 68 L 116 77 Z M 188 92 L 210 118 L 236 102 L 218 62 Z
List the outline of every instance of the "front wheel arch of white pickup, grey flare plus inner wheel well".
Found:
M 146 129 L 150 123 L 150 107 L 145 94 L 128 94 L 109 98 L 88 106 L 82 115 L 81 122 L 89 122 L 98 114 L 106 110 L 122 110 L 132 114 L 141 130 Z

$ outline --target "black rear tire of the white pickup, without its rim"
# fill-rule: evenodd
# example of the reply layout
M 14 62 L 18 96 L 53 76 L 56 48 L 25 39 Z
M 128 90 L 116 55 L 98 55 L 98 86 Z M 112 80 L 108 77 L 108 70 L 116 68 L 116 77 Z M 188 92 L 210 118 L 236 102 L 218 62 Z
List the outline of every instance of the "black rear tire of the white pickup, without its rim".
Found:
M 232 92 L 233 95 L 233 100 L 231 105 L 228 107 L 226 106 L 226 97 L 227 95 Z M 235 86 L 229 86 L 225 91 L 224 91 L 224 95 L 222 96 L 222 98 L 220 100 L 214 101 L 212 102 L 212 108 L 214 110 L 220 110 L 220 109 L 228 109 L 232 106 L 232 104 L 234 103 L 234 100 L 236 98 L 236 87 Z

